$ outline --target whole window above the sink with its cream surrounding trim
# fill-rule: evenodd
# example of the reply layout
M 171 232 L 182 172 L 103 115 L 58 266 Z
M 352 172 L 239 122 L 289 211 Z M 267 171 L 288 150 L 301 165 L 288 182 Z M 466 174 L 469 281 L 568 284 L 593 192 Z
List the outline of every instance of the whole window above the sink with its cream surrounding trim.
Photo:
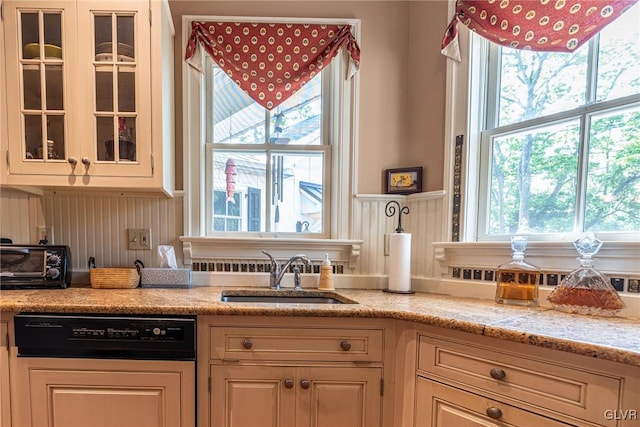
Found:
M 272 23 L 274 18 L 242 19 Z M 192 20 L 229 18 L 183 17 L 183 45 Z M 349 25 L 359 37 L 357 19 L 278 18 L 276 23 L 288 22 Z M 359 74 L 346 78 L 348 55 L 339 53 L 271 111 L 248 98 L 208 55 L 202 58 L 204 74 L 183 64 L 185 235 L 215 238 L 206 245 L 222 252 L 225 239 L 268 249 L 299 249 L 290 240 L 298 238 L 318 247 L 329 239 L 351 247 Z

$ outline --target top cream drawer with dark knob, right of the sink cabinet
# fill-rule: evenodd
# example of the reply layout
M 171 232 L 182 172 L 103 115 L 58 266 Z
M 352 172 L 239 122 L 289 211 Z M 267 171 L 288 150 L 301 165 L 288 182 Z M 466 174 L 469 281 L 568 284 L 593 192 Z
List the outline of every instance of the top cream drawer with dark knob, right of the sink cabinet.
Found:
M 616 425 L 603 414 L 619 407 L 622 378 L 424 335 L 418 351 L 418 371 L 430 378 L 597 425 Z

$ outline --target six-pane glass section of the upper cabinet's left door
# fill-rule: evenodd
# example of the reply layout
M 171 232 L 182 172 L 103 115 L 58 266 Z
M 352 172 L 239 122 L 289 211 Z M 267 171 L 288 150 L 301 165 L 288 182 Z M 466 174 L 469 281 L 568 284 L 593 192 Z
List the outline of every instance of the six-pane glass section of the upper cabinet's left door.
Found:
M 65 57 L 62 11 L 19 10 L 23 159 L 65 162 Z

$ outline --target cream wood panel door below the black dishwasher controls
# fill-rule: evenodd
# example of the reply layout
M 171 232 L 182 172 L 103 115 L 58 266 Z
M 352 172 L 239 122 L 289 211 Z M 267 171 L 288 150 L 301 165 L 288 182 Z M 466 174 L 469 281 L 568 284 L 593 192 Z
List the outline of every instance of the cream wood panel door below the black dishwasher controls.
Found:
M 14 358 L 13 425 L 191 427 L 193 362 Z

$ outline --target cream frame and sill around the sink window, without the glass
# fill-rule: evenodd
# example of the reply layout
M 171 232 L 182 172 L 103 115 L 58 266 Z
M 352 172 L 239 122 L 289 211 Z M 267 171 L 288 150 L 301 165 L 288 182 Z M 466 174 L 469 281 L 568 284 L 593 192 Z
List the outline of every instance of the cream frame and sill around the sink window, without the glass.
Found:
M 182 46 L 186 42 L 191 32 L 191 22 L 202 20 L 224 20 L 224 21 L 252 21 L 252 22 L 273 22 L 273 23 L 313 23 L 313 24 L 338 24 L 351 25 L 353 33 L 360 41 L 360 19 L 341 18 L 274 18 L 274 17 L 247 17 L 247 16 L 201 16 L 184 15 L 182 17 Z M 350 80 L 346 79 L 348 70 L 347 54 L 342 51 L 338 57 L 334 58 L 337 70 L 334 79 L 337 84 L 333 84 L 330 96 L 335 99 L 340 108 L 331 108 L 330 114 L 332 123 L 330 132 L 331 141 L 331 188 L 329 194 L 330 226 L 325 230 L 326 236 L 318 238 L 314 235 L 309 241 L 313 247 L 317 247 L 319 253 L 328 248 L 335 252 L 337 247 L 346 248 L 347 251 L 358 252 L 361 241 L 349 240 L 353 229 L 353 206 L 352 200 L 355 195 L 356 177 L 358 173 L 357 157 L 358 152 L 358 99 L 360 76 L 356 73 Z M 203 206 L 205 184 L 205 162 L 206 151 L 204 141 L 206 127 L 202 123 L 202 112 L 206 102 L 202 96 L 204 76 L 183 61 L 182 64 L 182 87 L 183 87 L 183 165 L 184 165 L 184 230 L 180 240 L 188 250 L 198 248 L 198 256 L 216 256 L 224 253 L 224 242 L 229 239 L 234 241 L 242 240 L 257 249 L 273 248 L 274 246 L 283 248 L 298 248 L 298 243 L 305 240 L 300 233 L 257 233 L 256 236 L 232 237 L 230 234 L 224 236 L 206 236 L 205 230 L 205 209 Z M 336 105 L 336 104 L 334 104 Z M 245 233 L 243 233 L 245 234 Z M 297 234 L 297 235 L 296 235 Z M 191 243 L 197 242 L 197 244 Z M 207 242 L 207 243 L 204 243 Z M 336 246 L 337 245 L 337 246 Z M 338 250 L 341 251 L 342 249 Z M 196 254 L 193 254 L 194 256 Z

